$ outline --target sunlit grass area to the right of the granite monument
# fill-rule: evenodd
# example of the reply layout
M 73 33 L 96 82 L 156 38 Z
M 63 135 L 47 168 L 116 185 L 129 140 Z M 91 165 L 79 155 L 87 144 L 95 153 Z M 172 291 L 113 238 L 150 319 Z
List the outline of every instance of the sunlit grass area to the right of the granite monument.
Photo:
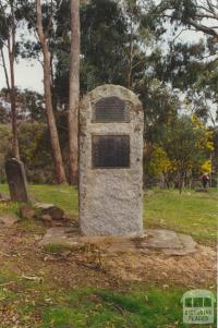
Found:
M 193 235 L 199 242 L 216 242 L 218 190 L 208 193 L 155 190 L 144 197 L 144 221 L 147 228 L 171 229 Z

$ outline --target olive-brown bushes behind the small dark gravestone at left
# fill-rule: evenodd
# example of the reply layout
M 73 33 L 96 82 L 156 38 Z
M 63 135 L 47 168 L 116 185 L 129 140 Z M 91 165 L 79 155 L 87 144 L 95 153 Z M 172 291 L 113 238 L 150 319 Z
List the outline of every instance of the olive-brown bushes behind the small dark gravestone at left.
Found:
M 5 159 L 11 153 L 11 126 L 0 124 L 0 181 L 5 181 Z M 28 181 L 35 183 L 52 182 L 55 172 L 47 125 L 38 122 L 21 122 L 19 125 L 21 158 L 26 167 Z M 41 169 L 43 168 L 43 169 Z

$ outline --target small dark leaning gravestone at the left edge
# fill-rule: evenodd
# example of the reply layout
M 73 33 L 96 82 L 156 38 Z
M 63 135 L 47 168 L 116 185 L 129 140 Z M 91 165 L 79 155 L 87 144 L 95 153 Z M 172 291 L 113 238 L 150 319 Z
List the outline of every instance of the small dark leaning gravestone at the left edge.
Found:
M 23 162 L 15 158 L 7 160 L 5 172 L 11 201 L 28 202 L 27 183 Z

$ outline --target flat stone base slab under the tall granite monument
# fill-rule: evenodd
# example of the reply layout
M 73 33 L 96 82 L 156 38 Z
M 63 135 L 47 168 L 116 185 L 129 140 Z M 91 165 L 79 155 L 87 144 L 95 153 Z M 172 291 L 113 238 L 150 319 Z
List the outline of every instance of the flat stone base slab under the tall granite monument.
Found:
M 39 242 L 40 246 L 59 244 L 81 247 L 93 244 L 106 253 L 162 252 L 166 255 L 187 255 L 195 253 L 196 242 L 192 236 L 170 230 L 146 230 L 143 238 L 85 236 L 76 228 L 50 228 Z

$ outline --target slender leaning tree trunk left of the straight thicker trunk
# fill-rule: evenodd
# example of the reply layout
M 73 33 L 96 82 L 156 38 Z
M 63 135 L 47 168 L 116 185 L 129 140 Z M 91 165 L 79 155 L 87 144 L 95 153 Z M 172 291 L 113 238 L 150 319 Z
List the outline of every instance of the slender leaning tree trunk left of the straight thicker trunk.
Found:
M 63 167 L 56 119 L 52 109 L 51 82 L 50 82 L 51 78 L 50 52 L 48 48 L 47 37 L 43 28 L 43 13 L 41 13 L 40 0 L 36 0 L 36 4 L 37 4 L 37 33 L 41 45 L 43 56 L 44 56 L 44 92 L 45 92 L 46 112 L 47 112 L 48 127 L 50 132 L 51 149 L 53 155 L 57 182 L 60 184 L 60 183 L 65 183 L 66 178 L 65 178 L 65 172 Z

